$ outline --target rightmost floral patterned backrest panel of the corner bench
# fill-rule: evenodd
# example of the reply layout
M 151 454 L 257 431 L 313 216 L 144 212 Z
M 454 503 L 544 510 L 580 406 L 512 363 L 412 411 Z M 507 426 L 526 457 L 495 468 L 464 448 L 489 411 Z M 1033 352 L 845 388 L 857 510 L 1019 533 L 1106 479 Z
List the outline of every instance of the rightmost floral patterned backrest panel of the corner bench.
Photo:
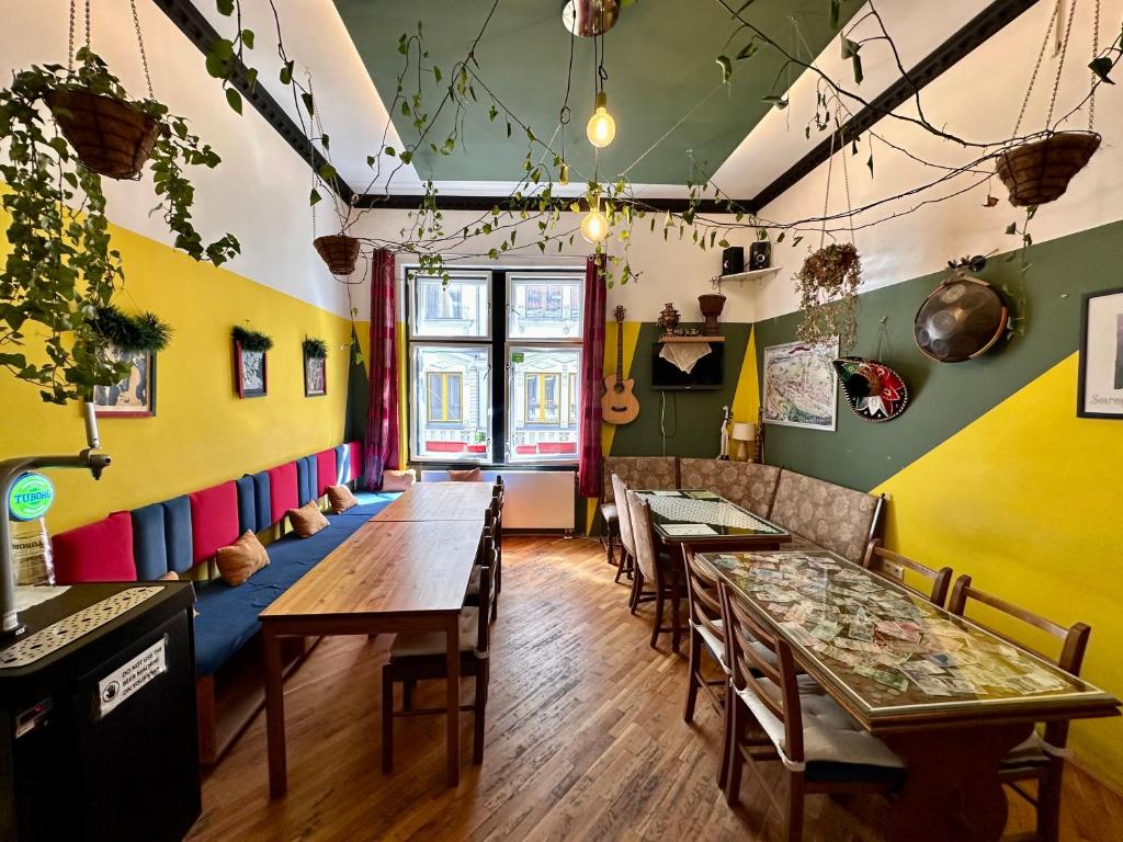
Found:
M 783 470 L 769 520 L 823 549 L 861 564 L 880 527 L 883 497 Z M 796 543 L 793 549 L 797 548 Z

